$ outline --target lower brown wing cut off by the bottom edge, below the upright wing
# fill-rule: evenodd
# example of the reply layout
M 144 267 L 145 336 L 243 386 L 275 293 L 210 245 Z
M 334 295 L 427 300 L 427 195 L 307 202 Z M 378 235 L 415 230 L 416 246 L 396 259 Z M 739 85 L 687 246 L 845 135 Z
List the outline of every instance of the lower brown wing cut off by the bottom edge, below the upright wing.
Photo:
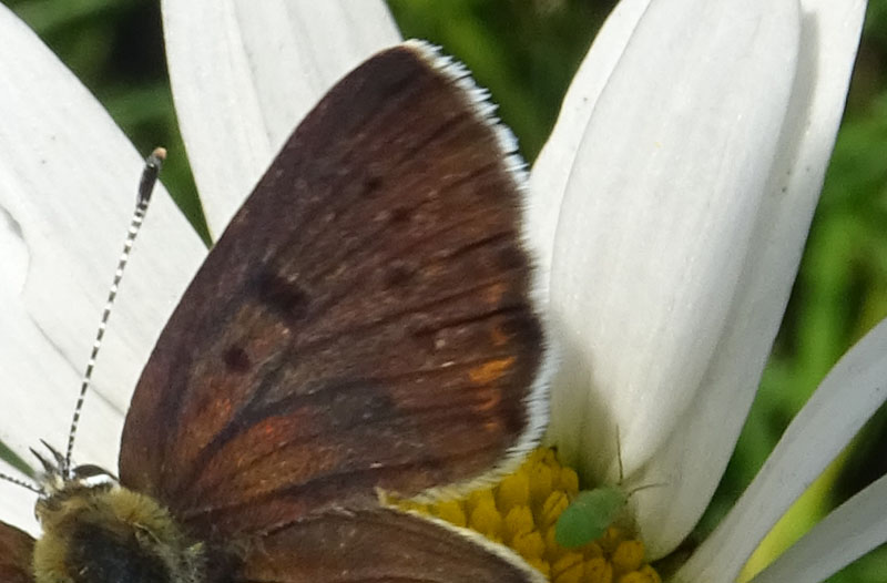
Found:
M 391 510 L 327 511 L 268 533 L 257 544 L 235 581 L 546 581 L 478 534 Z

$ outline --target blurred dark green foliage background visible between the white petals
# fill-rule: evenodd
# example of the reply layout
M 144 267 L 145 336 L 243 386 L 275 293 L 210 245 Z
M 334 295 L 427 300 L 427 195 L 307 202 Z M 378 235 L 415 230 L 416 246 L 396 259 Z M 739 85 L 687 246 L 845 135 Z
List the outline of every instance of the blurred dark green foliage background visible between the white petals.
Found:
M 166 80 L 156 0 L 3 3 L 92 90 L 140 151 L 164 144 L 173 153 L 184 152 Z M 406 37 L 441 44 L 469 65 L 479 83 L 491 90 L 501 116 L 532 161 L 557 119 L 573 72 L 613 3 L 390 0 L 389 7 Z M 840 355 L 887 316 L 885 63 L 887 0 L 871 0 L 844 124 L 788 311 L 737 450 L 693 540 L 701 540 L 723 516 Z M 164 183 L 205 235 L 184 156 L 171 156 Z M 884 474 L 885 419 L 879 411 L 793 509 L 761 549 L 759 564 L 829 509 Z M 887 546 L 829 579 L 885 580 Z

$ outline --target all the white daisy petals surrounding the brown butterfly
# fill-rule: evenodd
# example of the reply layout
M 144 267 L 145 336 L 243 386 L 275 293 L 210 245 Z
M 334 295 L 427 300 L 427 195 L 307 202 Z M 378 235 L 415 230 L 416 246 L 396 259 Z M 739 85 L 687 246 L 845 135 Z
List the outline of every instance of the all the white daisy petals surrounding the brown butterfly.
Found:
M 176 109 L 214 234 L 326 89 L 399 40 L 383 4 L 368 0 L 170 0 L 163 9 Z M 660 484 L 632 497 L 656 555 L 695 524 L 747 413 L 834 143 L 864 9 L 858 0 L 624 0 L 533 168 L 533 234 L 565 338 L 551 439 L 589 475 L 615 481 L 621 454 L 626 485 Z M 21 453 L 34 437 L 67 438 L 91 342 L 83 330 L 104 301 L 141 157 L 4 8 L 0 37 L 0 111 L 16 112 L 0 124 L 0 428 L 22 428 L 0 437 Z M 150 222 L 78 442 L 80 459 L 111 468 L 130 391 L 205 255 L 166 196 L 156 196 Z M 883 400 L 885 345 L 881 325 L 835 368 L 676 577 L 735 577 Z M 884 482 L 762 576 L 815 581 L 884 541 Z M 0 497 L 3 520 L 28 524 L 32 497 L 10 490 Z M 829 555 L 840 529 L 867 538 Z

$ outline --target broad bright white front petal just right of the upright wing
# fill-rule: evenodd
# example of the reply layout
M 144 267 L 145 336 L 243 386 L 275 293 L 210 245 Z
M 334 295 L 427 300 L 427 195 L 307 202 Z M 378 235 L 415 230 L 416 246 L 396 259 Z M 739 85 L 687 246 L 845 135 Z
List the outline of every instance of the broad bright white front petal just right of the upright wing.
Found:
M 694 403 L 746 269 L 797 18 L 793 1 L 654 2 L 598 101 L 551 275 L 567 339 L 552 434 L 568 456 L 591 456 L 597 477 L 619 479 L 619 431 L 634 482 Z M 665 485 L 644 503 L 686 487 L 673 474 L 648 483 Z

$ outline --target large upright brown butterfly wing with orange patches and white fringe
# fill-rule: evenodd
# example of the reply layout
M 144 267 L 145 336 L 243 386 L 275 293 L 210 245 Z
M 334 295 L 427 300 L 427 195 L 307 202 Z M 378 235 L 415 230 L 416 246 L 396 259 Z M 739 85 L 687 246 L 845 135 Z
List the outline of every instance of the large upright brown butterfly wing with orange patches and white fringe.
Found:
M 161 335 L 124 485 L 198 531 L 256 532 L 534 443 L 544 338 L 519 176 L 470 83 L 405 44 L 305 119 Z

